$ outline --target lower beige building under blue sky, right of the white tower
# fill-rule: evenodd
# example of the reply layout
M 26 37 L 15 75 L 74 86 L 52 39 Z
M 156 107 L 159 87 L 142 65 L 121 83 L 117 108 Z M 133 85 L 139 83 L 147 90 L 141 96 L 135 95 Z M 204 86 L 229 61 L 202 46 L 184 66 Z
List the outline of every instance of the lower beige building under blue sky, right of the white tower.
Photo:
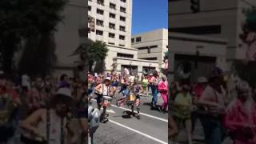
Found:
M 168 30 L 158 29 L 131 38 L 132 47 L 138 50 L 138 59 L 156 61 L 163 68 L 163 58 L 168 51 Z

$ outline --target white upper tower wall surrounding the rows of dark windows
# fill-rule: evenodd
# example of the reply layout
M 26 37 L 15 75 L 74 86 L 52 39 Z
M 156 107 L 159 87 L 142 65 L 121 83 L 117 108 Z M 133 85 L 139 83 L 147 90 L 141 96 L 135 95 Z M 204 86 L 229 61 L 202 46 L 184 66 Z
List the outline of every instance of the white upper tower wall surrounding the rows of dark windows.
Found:
M 116 5 L 116 10 L 110 9 L 110 2 Z M 104 6 L 99 5 L 97 0 L 91 0 L 88 2 L 88 5 L 91 6 L 91 10 L 88 11 L 88 14 L 104 22 L 104 26 L 97 26 L 95 23 L 96 30 L 102 30 L 103 36 L 96 35 L 96 32 L 90 32 L 88 37 L 93 41 L 99 40 L 106 42 L 106 44 L 108 44 L 108 42 L 114 42 L 114 46 L 121 44 L 125 45 L 123 47 L 130 47 L 132 0 L 127 0 L 126 3 L 119 0 L 104 0 Z M 120 6 L 126 8 L 126 13 L 120 11 Z M 104 10 L 104 14 L 97 14 L 97 9 Z M 115 18 L 110 18 L 110 13 L 115 14 Z M 126 22 L 120 21 L 120 16 L 125 17 Z M 109 28 L 110 22 L 115 24 L 115 30 Z M 125 26 L 126 32 L 120 31 L 119 26 Z M 114 33 L 115 38 L 109 38 L 109 33 Z M 119 35 L 124 35 L 126 37 L 125 40 L 120 40 Z

